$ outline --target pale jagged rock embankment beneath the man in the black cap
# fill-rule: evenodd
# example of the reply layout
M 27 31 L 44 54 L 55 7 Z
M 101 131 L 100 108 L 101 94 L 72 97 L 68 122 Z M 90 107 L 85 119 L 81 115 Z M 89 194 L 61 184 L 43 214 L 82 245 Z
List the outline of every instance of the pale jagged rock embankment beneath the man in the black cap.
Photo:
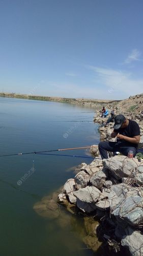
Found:
M 124 115 L 139 123 L 142 139 L 142 114 Z M 97 114 L 94 121 L 102 124 L 106 119 Z M 113 140 L 110 138 L 112 127 L 113 123 L 99 127 L 101 140 Z M 99 155 L 97 148 L 92 148 L 92 153 Z M 98 218 L 100 225 L 94 233 L 115 253 L 125 247 L 131 255 L 139 256 L 143 255 L 142 185 L 143 160 L 122 155 L 104 160 L 95 158 L 89 165 L 81 164 L 75 177 L 65 183 L 58 200 L 68 207 L 76 207 L 93 219 Z M 94 249 L 89 241 L 85 243 Z

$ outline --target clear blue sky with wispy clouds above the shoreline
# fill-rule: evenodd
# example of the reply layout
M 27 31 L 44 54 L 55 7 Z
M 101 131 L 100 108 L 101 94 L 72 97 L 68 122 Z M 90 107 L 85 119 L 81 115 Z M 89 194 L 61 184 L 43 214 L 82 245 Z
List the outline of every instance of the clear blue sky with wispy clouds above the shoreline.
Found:
M 0 0 L 0 91 L 143 93 L 142 0 Z

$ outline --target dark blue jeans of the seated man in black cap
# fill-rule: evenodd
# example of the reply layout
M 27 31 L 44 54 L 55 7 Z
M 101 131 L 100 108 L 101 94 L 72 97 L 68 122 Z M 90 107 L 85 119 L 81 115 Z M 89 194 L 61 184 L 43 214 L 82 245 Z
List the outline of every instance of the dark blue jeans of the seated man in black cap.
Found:
M 99 152 L 101 155 L 102 159 L 107 159 L 108 154 L 107 151 L 109 152 L 120 152 L 124 156 L 128 156 L 128 152 L 131 150 L 133 151 L 133 157 L 135 157 L 137 153 L 137 148 L 130 146 L 126 142 L 112 142 L 112 141 L 102 141 L 98 145 Z

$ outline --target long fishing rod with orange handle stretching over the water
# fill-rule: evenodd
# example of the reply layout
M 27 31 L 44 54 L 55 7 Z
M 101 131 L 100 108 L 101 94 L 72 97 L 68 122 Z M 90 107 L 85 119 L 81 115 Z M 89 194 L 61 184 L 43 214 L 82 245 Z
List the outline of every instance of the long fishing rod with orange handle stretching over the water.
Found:
M 91 147 L 98 147 L 98 145 L 95 145 L 95 146 L 82 146 L 82 147 L 71 147 L 71 148 L 59 148 L 57 150 L 47 150 L 47 151 L 34 151 L 34 152 L 7 154 L 7 155 L 0 155 L 0 157 L 21 156 L 21 155 L 28 155 L 28 154 L 40 154 L 40 153 L 56 152 L 56 151 L 66 151 L 66 150 L 81 150 L 83 148 L 91 148 Z

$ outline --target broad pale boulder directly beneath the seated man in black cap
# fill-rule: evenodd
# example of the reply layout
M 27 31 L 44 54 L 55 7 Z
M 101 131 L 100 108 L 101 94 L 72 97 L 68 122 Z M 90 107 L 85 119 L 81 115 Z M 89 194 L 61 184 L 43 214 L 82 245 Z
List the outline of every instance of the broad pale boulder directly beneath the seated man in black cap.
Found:
M 140 165 L 138 159 L 128 158 L 126 156 L 115 156 L 112 158 L 104 159 L 103 165 L 109 170 L 111 176 L 115 177 L 117 180 L 126 178 L 132 175 L 135 168 Z

